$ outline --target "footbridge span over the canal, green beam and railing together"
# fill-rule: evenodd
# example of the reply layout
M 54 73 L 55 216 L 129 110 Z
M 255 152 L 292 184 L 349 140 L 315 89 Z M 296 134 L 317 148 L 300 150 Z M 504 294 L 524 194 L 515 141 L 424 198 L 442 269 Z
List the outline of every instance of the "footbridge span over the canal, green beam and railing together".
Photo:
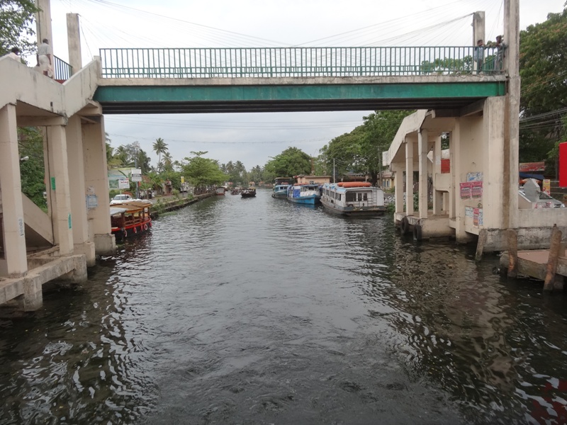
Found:
M 475 47 L 101 49 L 105 114 L 463 108 L 504 96 L 497 50 Z

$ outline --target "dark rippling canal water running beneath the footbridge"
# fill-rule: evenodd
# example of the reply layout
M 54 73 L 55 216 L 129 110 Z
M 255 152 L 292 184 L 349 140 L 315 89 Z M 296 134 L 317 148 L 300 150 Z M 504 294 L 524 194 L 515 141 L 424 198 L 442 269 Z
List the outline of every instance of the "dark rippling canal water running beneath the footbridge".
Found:
M 0 424 L 564 424 L 566 300 L 496 267 L 209 198 L 0 319 Z

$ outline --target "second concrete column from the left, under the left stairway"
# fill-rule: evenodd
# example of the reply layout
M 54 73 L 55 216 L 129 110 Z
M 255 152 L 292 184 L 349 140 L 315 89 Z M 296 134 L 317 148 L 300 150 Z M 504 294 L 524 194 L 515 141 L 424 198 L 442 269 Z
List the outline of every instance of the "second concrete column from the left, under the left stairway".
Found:
M 60 255 L 73 254 L 73 230 L 71 215 L 71 193 L 69 189 L 69 168 L 67 162 L 67 137 L 64 125 L 47 127 L 47 149 L 54 175 L 48 182 L 53 208 L 54 237 L 57 235 Z M 54 187 L 55 186 L 55 187 Z

